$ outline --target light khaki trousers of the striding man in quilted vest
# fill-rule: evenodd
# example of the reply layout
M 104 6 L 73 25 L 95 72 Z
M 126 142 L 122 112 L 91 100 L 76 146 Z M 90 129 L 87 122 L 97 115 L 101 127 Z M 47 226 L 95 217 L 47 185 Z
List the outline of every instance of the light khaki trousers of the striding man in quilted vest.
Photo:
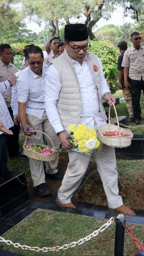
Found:
M 58 198 L 61 203 L 70 203 L 71 197 L 82 182 L 88 168 L 90 156 L 69 151 L 69 164 L 65 172 L 61 187 L 58 190 Z M 123 204 L 122 197 L 119 195 L 118 173 L 116 166 L 115 149 L 102 144 L 97 149 L 97 153 L 92 157 L 100 174 L 104 191 L 107 196 L 108 206 L 117 208 Z

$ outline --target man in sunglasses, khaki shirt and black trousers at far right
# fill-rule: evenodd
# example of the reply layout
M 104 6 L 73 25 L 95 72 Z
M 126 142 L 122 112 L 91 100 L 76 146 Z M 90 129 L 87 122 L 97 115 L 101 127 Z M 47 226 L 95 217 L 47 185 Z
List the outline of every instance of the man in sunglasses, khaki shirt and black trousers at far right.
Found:
M 125 51 L 122 61 L 124 67 L 125 88 L 131 88 L 133 113 L 136 124 L 141 121 L 140 96 L 144 92 L 144 47 L 140 45 L 141 35 L 138 32 L 131 34 L 133 46 Z M 129 77 L 129 80 L 128 80 Z

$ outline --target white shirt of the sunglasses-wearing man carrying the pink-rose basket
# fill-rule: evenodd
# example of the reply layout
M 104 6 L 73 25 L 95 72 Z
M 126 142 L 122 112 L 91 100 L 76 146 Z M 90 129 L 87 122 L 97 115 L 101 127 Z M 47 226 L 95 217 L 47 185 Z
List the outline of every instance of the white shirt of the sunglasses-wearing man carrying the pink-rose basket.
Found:
M 24 69 L 16 82 L 17 99 L 26 102 L 26 113 L 41 119 L 45 106 L 45 73 L 47 66 L 43 65 L 41 77 L 35 74 L 30 67 Z

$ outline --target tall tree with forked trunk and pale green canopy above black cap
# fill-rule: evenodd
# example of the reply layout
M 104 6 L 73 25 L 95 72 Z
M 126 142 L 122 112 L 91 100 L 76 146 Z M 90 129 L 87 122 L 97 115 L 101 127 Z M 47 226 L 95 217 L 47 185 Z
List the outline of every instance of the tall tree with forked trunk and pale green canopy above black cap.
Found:
M 92 29 L 101 17 L 108 20 L 116 5 L 122 5 L 125 15 L 130 12 L 132 18 L 139 17 L 144 12 L 144 0 L 19 0 L 22 2 L 25 15 L 41 24 L 44 21 L 53 28 L 53 35 L 57 30 L 61 19 L 67 24 L 71 18 L 75 18 L 77 23 L 81 20 L 86 24 L 88 35 L 95 38 Z

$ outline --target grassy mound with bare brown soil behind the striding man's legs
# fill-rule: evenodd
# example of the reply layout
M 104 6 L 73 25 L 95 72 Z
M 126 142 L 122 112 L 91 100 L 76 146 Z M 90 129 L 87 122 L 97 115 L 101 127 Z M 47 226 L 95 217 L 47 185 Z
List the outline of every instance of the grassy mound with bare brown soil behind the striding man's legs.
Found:
M 119 194 L 130 208 L 144 209 L 144 160 L 117 160 Z M 107 205 L 98 170 L 93 171 L 76 195 L 76 200 Z

